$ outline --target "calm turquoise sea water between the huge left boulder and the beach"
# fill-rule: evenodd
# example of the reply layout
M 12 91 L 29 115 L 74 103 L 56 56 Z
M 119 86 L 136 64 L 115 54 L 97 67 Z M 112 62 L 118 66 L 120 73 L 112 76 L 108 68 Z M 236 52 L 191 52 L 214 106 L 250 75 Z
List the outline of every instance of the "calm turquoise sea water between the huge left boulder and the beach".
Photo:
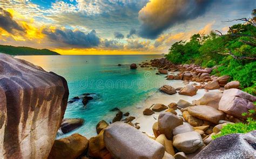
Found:
M 70 96 L 80 96 L 83 93 L 96 93 L 95 99 L 83 106 L 82 101 L 69 104 L 65 118 L 82 118 L 85 124 L 68 134 L 80 133 L 87 138 L 96 135 L 98 121 L 112 121 L 116 112 L 110 110 L 118 107 L 120 110 L 136 105 L 165 82 L 164 75 L 156 74 L 155 69 L 130 69 L 131 63 L 150 61 L 161 58 L 162 55 L 81 55 L 81 56 L 17 56 L 41 66 L 46 71 L 53 71 L 68 81 Z M 117 66 L 117 64 L 122 66 Z M 132 113 L 132 112 L 131 112 Z M 138 114 L 132 114 L 138 115 Z

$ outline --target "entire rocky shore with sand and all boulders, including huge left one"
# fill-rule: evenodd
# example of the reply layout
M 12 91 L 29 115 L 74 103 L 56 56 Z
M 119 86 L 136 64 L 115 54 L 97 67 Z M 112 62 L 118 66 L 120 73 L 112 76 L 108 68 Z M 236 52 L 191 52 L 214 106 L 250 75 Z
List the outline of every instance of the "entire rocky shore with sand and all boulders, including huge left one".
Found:
M 211 76 L 210 73 L 214 68 L 201 68 L 194 64 L 175 65 L 166 59 L 154 59 L 140 63 L 138 66 L 133 63 L 131 69 L 145 67 L 158 69 L 157 75 L 166 75 L 166 80 L 183 80 L 184 86 L 174 88 L 173 85 L 163 85 L 159 88 L 159 93 L 163 93 L 164 98 L 168 100 L 157 99 L 155 101 L 159 103 L 147 105 L 141 112 L 143 118 L 136 119 L 129 112 L 123 113 L 117 108 L 113 110 L 117 111 L 117 114 L 111 124 L 104 120 L 97 124 L 97 136 L 88 140 L 80 134 L 73 134 L 54 140 L 59 128 L 62 132 L 70 132 L 84 122 L 80 119 L 63 120 L 68 103 L 68 87 L 65 79 L 47 73 L 24 60 L 17 60 L 5 54 L 0 56 L 1 68 L 8 68 L 1 69 L 0 78 L 2 88 L 0 109 L 3 110 L 0 112 L 2 134 L 0 156 L 3 158 L 255 158 L 256 156 L 256 131 L 212 139 L 213 135 L 220 133 L 223 126 L 244 122 L 245 117 L 241 114 L 254 109 L 253 102 L 256 101 L 256 97 L 239 90 L 238 81 L 228 82 L 230 78 L 228 76 Z M 34 83 L 26 83 L 31 79 L 31 75 L 26 73 L 35 75 Z M 44 77 L 41 77 L 42 75 Z M 42 79 L 47 79 L 48 82 L 42 82 Z M 19 85 L 13 84 L 10 88 L 9 81 Z M 16 92 L 17 89 L 20 91 Z M 192 101 L 198 92 L 204 93 L 198 100 Z M 22 105 L 21 111 L 13 111 L 17 109 L 15 104 L 27 104 L 28 99 L 32 99 L 35 95 L 42 101 L 37 103 L 36 107 L 33 107 L 36 103 L 32 102 L 30 105 Z M 44 98 L 45 95 L 49 96 Z M 21 98 L 17 98 L 19 96 Z M 50 96 L 51 98 L 48 98 Z M 180 98 L 172 100 L 177 96 L 187 100 Z M 14 97 L 16 103 L 11 102 Z M 73 98 L 70 102 L 77 100 L 81 100 L 86 106 L 92 98 L 84 94 Z M 10 106 L 11 103 L 13 105 Z M 53 106 L 56 110 L 48 110 L 53 109 Z M 34 113 L 35 109 L 37 114 Z M 54 117 L 51 116 L 52 111 L 56 112 Z M 24 117 L 28 114 L 34 118 L 25 120 Z M 45 118 L 48 119 L 47 122 L 42 122 L 41 117 L 47 115 L 48 117 Z M 15 123 L 12 121 L 23 123 L 23 126 L 17 123 L 12 125 Z M 29 125 L 31 122 L 33 126 Z M 153 135 L 141 130 L 145 126 L 147 128 L 150 126 Z M 27 129 L 31 131 L 26 131 Z M 37 129 L 38 131 L 35 131 Z M 6 140 L 7 136 L 11 136 L 8 133 L 14 130 L 17 135 L 12 137 L 17 136 L 17 138 Z

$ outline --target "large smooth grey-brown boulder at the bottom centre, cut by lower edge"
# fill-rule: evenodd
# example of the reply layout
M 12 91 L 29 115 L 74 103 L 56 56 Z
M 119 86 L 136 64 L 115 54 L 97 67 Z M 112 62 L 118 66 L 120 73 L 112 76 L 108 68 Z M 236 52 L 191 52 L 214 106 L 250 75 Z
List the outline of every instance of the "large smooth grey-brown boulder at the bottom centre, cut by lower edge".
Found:
M 136 128 L 115 122 L 104 131 L 104 143 L 114 158 L 163 158 L 165 148 Z

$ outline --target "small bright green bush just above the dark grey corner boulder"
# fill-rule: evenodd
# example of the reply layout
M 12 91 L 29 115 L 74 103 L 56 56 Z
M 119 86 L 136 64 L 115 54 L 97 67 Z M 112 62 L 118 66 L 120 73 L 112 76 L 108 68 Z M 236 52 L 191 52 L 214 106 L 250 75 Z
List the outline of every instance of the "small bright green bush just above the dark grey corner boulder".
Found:
M 218 135 L 213 135 L 212 139 L 219 138 L 220 136 L 234 134 L 234 133 L 248 133 L 254 131 L 256 129 L 256 121 L 248 122 L 248 124 L 244 124 L 242 122 L 238 122 L 235 124 L 227 124 L 221 129 L 221 133 Z

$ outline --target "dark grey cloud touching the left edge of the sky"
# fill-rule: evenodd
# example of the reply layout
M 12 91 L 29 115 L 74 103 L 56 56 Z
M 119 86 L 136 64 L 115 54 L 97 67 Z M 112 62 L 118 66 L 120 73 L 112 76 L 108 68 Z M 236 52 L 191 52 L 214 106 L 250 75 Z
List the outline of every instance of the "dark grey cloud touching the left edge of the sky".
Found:
M 5 11 L 0 7 L 0 27 L 5 31 L 15 34 L 16 31 L 25 32 L 25 29 L 22 26 L 19 26 L 18 23 L 12 19 L 11 13 Z

